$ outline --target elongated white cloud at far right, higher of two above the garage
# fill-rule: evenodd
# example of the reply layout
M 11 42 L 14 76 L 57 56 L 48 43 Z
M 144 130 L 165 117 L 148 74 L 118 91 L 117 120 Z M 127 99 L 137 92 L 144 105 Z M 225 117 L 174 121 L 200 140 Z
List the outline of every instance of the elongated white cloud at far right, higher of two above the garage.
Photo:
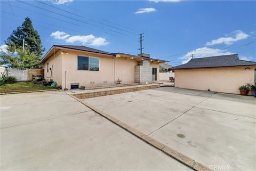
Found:
M 245 32 L 241 31 L 241 30 L 236 30 L 233 32 L 233 35 L 231 35 L 230 37 L 220 37 L 218 39 L 215 40 L 211 40 L 211 42 L 207 42 L 206 45 L 215 45 L 215 44 L 221 44 L 224 43 L 226 45 L 231 45 L 234 42 L 237 42 L 238 40 L 243 40 L 248 38 L 249 35 L 245 34 Z

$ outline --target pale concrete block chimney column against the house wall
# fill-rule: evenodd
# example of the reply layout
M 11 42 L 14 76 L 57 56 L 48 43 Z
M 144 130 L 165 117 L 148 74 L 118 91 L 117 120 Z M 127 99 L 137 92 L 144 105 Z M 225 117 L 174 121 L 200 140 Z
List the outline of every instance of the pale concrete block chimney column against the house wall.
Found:
M 138 66 L 135 66 L 135 83 L 151 83 L 152 82 L 152 67 L 150 67 L 150 61 L 144 59 L 138 61 Z

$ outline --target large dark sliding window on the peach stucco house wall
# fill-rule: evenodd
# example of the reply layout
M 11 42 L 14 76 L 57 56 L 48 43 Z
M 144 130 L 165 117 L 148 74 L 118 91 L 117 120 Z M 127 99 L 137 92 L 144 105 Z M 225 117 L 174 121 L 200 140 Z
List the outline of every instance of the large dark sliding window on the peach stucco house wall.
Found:
M 99 59 L 77 56 L 77 70 L 99 71 Z

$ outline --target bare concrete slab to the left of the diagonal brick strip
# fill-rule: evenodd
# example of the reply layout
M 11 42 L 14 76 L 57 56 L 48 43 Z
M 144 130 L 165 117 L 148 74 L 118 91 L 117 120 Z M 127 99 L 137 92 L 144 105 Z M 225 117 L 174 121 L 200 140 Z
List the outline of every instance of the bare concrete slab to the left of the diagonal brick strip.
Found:
M 1 95 L 1 170 L 190 168 L 52 91 Z

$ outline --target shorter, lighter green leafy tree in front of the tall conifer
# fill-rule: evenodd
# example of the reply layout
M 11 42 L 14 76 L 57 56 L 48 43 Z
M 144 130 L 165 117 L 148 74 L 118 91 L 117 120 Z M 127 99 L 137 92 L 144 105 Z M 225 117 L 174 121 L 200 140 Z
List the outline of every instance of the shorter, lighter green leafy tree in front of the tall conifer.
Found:
M 15 52 L 0 52 L 0 64 L 7 64 L 12 68 L 38 68 L 40 56 L 29 53 L 27 50 L 17 49 Z

